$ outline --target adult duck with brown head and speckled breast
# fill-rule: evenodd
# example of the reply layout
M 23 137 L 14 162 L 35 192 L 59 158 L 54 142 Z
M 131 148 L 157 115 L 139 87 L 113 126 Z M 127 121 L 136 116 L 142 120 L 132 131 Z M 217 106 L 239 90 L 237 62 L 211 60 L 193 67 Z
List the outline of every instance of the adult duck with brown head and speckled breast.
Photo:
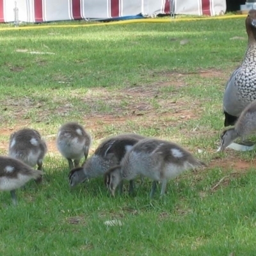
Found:
M 234 125 L 243 109 L 256 99 L 256 10 L 250 10 L 245 20 L 248 47 L 243 63 L 228 79 L 224 96 L 224 125 Z

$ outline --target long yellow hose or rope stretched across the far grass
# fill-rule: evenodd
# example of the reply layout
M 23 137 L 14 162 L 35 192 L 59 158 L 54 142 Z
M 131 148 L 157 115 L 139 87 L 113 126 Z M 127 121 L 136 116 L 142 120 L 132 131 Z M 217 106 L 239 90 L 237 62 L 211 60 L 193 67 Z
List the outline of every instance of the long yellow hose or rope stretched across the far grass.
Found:
M 100 22 L 93 24 L 68 24 L 68 25 L 35 25 L 35 26 L 24 26 L 24 27 L 8 27 L 0 28 L 0 31 L 8 30 L 22 30 L 22 29 L 41 29 L 41 28 L 78 28 L 78 27 L 92 27 L 92 26 L 109 26 L 109 25 L 124 25 L 133 23 L 168 23 L 168 22 L 179 22 L 179 21 L 193 21 L 193 20 L 213 20 L 213 19 L 236 19 L 244 18 L 247 15 L 223 15 L 214 17 L 198 17 L 198 18 L 177 18 L 177 19 L 132 19 L 132 20 L 118 20 L 113 22 Z

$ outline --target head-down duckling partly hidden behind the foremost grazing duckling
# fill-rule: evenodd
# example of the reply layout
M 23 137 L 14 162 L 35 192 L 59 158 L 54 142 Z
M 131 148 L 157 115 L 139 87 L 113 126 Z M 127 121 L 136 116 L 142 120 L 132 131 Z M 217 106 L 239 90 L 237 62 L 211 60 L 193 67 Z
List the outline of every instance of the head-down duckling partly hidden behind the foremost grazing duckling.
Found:
M 75 168 L 69 173 L 70 186 L 74 187 L 86 179 L 103 175 L 111 166 L 119 164 L 125 153 L 144 138 L 139 134 L 120 134 L 102 141 L 93 156 L 88 158 L 82 167 Z M 130 186 L 132 185 L 130 183 Z

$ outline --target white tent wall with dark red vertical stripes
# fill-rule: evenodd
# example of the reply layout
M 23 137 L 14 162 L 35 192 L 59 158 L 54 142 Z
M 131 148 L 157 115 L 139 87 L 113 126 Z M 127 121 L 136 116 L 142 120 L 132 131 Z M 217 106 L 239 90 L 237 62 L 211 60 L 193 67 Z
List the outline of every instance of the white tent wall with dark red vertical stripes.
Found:
M 225 0 L 0 0 L 0 22 L 112 19 L 158 14 L 219 15 Z M 15 10 L 16 11 L 15 11 Z

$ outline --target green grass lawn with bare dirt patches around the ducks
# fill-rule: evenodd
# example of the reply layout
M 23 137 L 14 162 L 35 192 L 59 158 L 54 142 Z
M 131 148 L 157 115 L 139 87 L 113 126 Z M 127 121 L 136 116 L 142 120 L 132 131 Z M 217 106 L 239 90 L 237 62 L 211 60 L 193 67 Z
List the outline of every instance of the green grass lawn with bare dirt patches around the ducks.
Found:
M 49 145 L 42 186 L 19 189 L 17 207 L 0 195 L 1 255 L 255 255 L 255 152 L 216 153 L 244 19 L 1 31 L 0 44 L 1 153 L 25 126 Z M 70 120 L 93 149 L 138 132 L 177 141 L 209 167 L 170 180 L 163 201 L 149 200 L 149 180 L 133 197 L 111 198 L 102 177 L 70 189 L 54 146 Z

